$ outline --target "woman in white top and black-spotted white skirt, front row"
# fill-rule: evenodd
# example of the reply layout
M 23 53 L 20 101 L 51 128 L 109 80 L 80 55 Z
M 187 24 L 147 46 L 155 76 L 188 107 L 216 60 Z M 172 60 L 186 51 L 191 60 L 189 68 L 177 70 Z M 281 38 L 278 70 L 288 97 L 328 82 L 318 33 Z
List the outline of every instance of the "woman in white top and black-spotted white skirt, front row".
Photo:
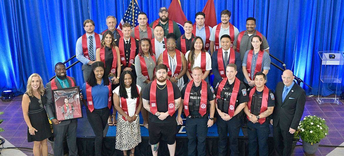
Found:
M 155 60 L 155 59 L 154 59 Z M 142 108 L 141 87 L 136 84 L 131 71 L 123 71 L 119 86 L 113 91 L 114 105 L 118 111 L 116 127 L 116 149 L 123 155 L 135 153 L 135 147 L 141 142 L 140 110 Z

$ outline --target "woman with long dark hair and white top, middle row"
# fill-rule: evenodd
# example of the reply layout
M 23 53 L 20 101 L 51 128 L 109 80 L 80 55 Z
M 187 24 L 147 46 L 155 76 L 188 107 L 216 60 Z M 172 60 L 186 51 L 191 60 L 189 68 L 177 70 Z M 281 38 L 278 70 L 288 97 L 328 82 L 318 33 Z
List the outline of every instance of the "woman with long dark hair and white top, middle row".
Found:
M 192 80 L 192 69 L 196 66 L 201 67 L 203 72 L 202 79 L 205 82 L 209 83 L 208 75 L 210 70 L 212 70 L 212 60 L 210 54 L 205 50 L 203 46 L 203 40 L 201 37 L 195 37 L 191 44 L 190 51 L 186 52 L 185 58 L 187 60 L 187 69 L 189 72 L 186 72 L 189 80 Z

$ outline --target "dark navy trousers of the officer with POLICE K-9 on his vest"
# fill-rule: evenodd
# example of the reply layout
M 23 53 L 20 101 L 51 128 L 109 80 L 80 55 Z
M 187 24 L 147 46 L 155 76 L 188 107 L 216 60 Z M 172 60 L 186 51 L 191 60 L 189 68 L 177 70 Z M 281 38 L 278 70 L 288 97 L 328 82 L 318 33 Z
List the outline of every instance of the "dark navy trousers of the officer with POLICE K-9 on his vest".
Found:
M 196 146 L 198 156 L 205 156 L 205 138 L 208 134 L 208 117 L 205 118 L 189 118 L 186 117 L 185 130 L 186 136 L 189 139 L 188 155 L 196 155 Z M 197 138 L 197 142 L 196 142 Z

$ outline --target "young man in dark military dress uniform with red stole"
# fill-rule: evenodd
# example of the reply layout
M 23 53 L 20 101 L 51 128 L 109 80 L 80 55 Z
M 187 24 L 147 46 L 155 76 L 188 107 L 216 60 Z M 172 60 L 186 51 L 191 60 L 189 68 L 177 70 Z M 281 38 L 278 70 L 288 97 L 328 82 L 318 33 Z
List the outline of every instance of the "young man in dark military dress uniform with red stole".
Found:
M 119 39 L 119 55 L 121 57 L 121 72 L 129 70 L 134 74 L 133 79 L 136 80 L 136 71 L 135 71 L 135 57 L 139 53 L 139 41 L 131 37 L 131 24 L 124 23 L 122 25 L 123 36 Z M 135 45 L 131 46 L 132 43 Z M 135 49 L 133 49 L 135 48 Z

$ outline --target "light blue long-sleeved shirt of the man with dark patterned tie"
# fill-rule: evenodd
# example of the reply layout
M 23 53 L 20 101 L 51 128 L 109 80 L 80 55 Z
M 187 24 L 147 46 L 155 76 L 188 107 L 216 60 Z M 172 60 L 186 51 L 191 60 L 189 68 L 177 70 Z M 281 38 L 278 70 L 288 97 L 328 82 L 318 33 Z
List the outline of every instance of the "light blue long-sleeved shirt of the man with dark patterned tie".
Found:
M 89 47 L 89 37 L 90 36 L 93 37 L 93 51 L 92 52 L 93 52 L 94 59 L 96 59 L 97 46 L 96 46 L 96 38 L 94 36 L 94 33 L 92 35 L 89 35 L 86 33 L 87 47 Z M 76 59 L 78 59 L 83 64 L 87 64 L 90 60 L 85 58 L 85 56 L 84 56 L 82 38 L 83 38 L 83 36 L 79 37 L 78 40 L 76 41 L 75 54 L 76 54 Z M 99 39 L 101 40 L 101 38 L 103 38 L 103 35 L 99 34 Z M 88 53 L 90 53 L 90 51 L 88 51 Z

